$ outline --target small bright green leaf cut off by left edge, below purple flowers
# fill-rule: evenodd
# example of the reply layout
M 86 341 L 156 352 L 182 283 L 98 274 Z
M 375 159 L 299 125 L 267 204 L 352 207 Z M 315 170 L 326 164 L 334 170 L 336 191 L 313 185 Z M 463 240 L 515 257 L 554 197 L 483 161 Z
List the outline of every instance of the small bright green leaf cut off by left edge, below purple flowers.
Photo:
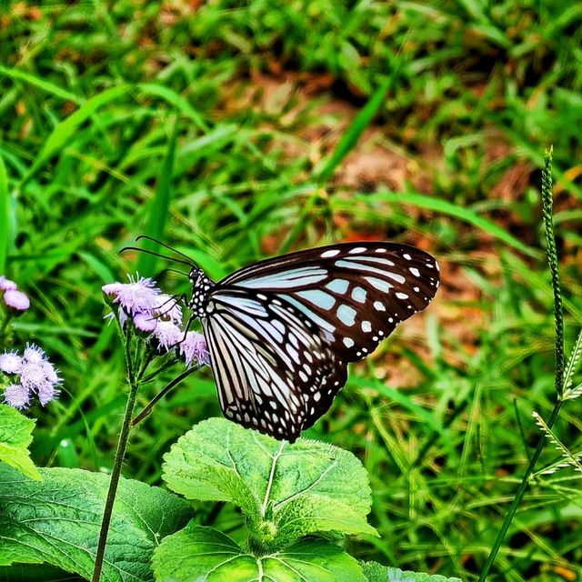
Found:
M 40 480 L 40 473 L 28 451 L 34 427 L 34 420 L 26 418 L 12 406 L 0 404 L 0 461 L 15 467 L 26 477 Z

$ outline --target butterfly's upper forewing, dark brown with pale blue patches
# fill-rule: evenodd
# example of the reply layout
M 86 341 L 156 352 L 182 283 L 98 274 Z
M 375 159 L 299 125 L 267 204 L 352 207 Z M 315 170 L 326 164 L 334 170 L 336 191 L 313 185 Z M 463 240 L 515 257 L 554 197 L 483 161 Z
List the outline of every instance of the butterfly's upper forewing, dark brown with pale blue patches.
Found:
M 340 361 L 354 362 L 424 309 L 438 282 L 437 261 L 424 251 L 366 242 L 266 259 L 227 276 L 218 287 L 268 293 L 296 307 Z

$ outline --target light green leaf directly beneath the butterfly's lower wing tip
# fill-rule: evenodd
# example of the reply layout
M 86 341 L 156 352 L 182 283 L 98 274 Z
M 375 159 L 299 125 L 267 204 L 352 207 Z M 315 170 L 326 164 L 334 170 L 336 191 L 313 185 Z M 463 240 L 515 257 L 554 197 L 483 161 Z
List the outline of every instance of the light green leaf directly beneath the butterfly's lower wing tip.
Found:
M 366 522 L 370 487 L 351 453 L 299 439 L 294 445 L 211 418 L 166 454 L 167 486 L 189 499 L 229 501 L 266 550 L 320 532 L 376 535 Z

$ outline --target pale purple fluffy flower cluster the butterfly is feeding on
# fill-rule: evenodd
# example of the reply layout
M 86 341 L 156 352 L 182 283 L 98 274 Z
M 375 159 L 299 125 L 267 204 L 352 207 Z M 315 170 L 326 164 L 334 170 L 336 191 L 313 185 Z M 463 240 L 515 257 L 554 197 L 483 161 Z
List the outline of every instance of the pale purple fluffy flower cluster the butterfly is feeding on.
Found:
M 176 347 L 186 365 L 210 364 L 206 339 L 195 331 L 182 331 L 182 308 L 176 298 L 162 293 L 156 281 L 129 276 L 129 283 L 110 283 L 102 287 L 112 306 L 118 305 L 121 326 L 131 318 L 139 331 L 156 340 L 157 349 L 167 352 Z M 114 316 L 114 314 L 111 314 Z

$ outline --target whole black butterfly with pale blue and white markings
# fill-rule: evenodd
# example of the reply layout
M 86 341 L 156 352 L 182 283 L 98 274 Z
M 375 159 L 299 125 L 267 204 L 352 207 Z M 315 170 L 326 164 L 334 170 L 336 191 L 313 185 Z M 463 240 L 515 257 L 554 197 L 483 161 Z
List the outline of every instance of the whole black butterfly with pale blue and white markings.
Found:
M 188 264 L 189 323 L 202 323 L 224 415 L 290 442 L 326 413 L 347 363 L 422 311 L 439 283 L 433 256 L 386 242 L 276 256 L 217 283 Z

